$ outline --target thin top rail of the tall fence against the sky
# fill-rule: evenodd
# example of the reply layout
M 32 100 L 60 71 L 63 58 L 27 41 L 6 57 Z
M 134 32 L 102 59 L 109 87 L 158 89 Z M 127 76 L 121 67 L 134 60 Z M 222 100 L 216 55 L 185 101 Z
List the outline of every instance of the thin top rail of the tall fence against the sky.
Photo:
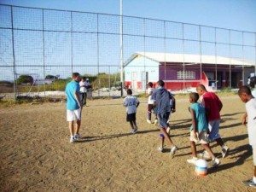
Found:
M 25 9 L 42 9 L 42 10 L 52 10 L 52 11 L 66 11 L 66 12 L 71 12 L 71 13 L 84 13 L 84 14 L 95 14 L 95 15 L 113 15 L 113 14 L 104 14 L 104 13 L 93 13 L 93 12 L 88 12 L 88 11 L 73 11 L 73 10 L 64 10 L 64 9 L 34 8 L 34 7 L 17 6 L 17 5 L 11 5 L 11 4 L 3 4 L 3 3 L 0 3 L 0 6 L 9 6 L 9 7 L 25 8 Z M 177 22 L 177 21 L 172 21 L 172 20 L 160 20 L 160 19 L 145 18 L 145 17 L 138 17 L 138 16 L 129 16 L 129 15 L 113 15 L 113 16 L 131 17 L 131 18 L 137 18 L 137 19 L 143 19 L 143 20 L 158 20 L 158 21 L 163 21 L 163 22 L 172 22 L 172 23 L 177 23 L 177 24 L 182 24 L 182 25 L 191 25 L 191 26 L 199 26 L 199 27 L 201 27 L 201 26 L 211 27 L 211 28 L 215 28 L 215 29 L 228 30 L 228 31 L 233 31 L 233 32 L 253 33 L 253 34 L 256 35 L 256 32 L 241 31 L 241 30 L 229 29 L 229 28 L 218 27 L 218 26 L 206 26 L 206 25 L 199 25 L 199 24 L 193 24 L 193 23 Z

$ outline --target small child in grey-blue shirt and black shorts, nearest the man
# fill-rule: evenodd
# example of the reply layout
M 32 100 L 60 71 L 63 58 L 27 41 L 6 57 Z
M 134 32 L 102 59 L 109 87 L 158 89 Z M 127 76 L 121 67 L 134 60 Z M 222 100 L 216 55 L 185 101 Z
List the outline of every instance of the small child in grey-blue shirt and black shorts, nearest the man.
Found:
M 137 132 L 137 124 L 136 124 L 136 112 L 137 107 L 140 102 L 138 101 L 136 96 L 132 96 L 131 89 L 127 90 L 127 96 L 125 97 L 123 105 L 126 107 L 126 121 L 130 122 L 131 125 L 131 133 Z

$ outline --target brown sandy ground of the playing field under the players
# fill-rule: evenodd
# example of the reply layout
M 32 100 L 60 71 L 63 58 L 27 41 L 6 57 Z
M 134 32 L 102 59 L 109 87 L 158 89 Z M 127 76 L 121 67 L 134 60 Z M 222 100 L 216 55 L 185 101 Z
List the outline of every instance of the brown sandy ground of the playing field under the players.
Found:
M 195 176 L 189 145 L 188 96 L 177 96 L 172 139 L 179 148 L 157 150 L 158 127 L 146 122 L 146 99 L 137 111 L 137 134 L 129 134 L 122 99 L 90 100 L 83 110 L 78 143 L 69 143 L 66 103 L 0 108 L 0 191 L 253 191 L 241 181 L 252 177 L 252 150 L 245 111 L 238 96 L 224 102 L 220 134 L 230 147 L 218 168 Z M 197 147 L 201 152 L 201 147 Z M 220 157 L 220 147 L 212 143 Z

